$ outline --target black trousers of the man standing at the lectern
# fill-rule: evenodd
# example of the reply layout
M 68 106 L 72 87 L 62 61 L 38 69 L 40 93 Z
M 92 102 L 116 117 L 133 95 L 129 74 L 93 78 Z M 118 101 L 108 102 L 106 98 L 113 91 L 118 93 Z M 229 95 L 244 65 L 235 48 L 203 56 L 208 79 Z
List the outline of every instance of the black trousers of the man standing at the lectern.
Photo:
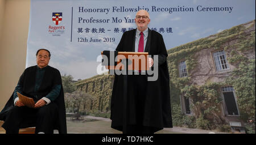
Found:
M 153 134 L 154 129 L 150 126 L 143 126 L 143 116 L 144 116 L 144 104 L 146 99 L 147 91 L 147 77 L 146 75 L 130 75 L 129 76 L 129 91 L 132 95 L 129 95 L 127 101 L 129 102 L 130 108 L 133 106 L 133 109 L 128 109 L 129 116 L 136 114 L 136 124 L 127 124 L 127 133 L 128 134 Z M 132 113 L 132 114 L 131 114 Z

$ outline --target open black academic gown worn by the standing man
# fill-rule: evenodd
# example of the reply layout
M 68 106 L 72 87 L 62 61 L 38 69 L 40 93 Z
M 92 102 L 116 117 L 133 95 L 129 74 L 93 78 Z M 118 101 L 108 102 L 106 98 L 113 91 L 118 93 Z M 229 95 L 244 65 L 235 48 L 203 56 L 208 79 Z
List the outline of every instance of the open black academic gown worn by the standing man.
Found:
M 135 34 L 136 29 L 123 33 L 122 39 L 119 42 L 117 49 L 119 52 L 135 52 Z M 158 55 L 158 79 L 154 82 L 147 82 L 146 99 L 144 104 L 143 126 L 154 128 L 154 132 L 163 129 L 163 127 L 172 127 L 171 117 L 171 102 L 170 102 L 170 77 L 166 58 L 168 56 L 166 46 L 164 45 L 163 37 L 156 31 L 148 29 L 148 38 L 144 52 L 149 55 Z M 129 75 L 125 79 L 126 84 L 129 84 Z M 127 86 L 127 94 L 124 95 L 124 75 L 115 75 L 113 92 L 111 99 L 111 120 L 112 128 L 123 131 L 123 123 L 126 125 L 136 124 L 136 110 L 134 104 L 126 101 L 123 96 L 131 97 L 133 93 L 129 92 L 130 87 Z M 125 101 L 124 101 L 125 99 Z M 129 100 L 129 99 L 128 99 Z M 127 104 L 123 104 L 126 102 Z M 123 107 L 126 106 L 127 107 Z M 125 115 L 125 116 L 124 116 Z M 124 121 L 125 120 L 125 121 Z

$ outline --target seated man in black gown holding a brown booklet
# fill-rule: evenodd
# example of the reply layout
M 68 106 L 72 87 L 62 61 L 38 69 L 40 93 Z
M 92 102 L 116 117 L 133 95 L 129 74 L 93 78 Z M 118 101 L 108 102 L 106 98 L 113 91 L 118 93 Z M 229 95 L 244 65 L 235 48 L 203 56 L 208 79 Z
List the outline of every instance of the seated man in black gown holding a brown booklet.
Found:
M 59 70 L 48 66 L 51 53 L 47 49 L 36 52 L 36 66 L 24 70 L 13 95 L 0 113 L 6 133 L 19 133 L 20 128 L 35 126 L 35 133 L 67 133 L 63 86 Z M 31 97 L 35 108 L 28 108 L 19 100 L 17 92 Z

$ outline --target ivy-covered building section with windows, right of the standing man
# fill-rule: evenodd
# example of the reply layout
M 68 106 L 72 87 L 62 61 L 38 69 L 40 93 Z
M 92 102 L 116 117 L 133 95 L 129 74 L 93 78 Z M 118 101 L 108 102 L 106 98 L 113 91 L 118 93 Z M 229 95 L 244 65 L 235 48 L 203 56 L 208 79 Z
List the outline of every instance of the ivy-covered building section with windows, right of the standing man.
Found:
M 255 133 L 255 20 L 168 54 L 177 126 Z

